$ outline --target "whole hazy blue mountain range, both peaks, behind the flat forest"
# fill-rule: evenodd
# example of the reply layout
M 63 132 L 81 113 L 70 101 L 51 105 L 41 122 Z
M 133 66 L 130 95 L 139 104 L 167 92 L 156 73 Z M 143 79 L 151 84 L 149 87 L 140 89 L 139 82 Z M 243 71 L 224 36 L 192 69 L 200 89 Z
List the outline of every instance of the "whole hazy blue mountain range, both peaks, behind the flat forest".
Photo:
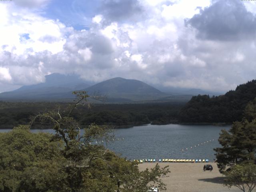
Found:
M 74 99 L 72 94 L 74 90 L 86 90 L 90 95 L 103 96 L 104 100 L 109 103 L 187 102 L 192 96 L 166 94 L 142 81 L 120 77 L 91 85 L 92 83 L 76 75 L 54 73 L 46 75 L 43 83 L 22 86 L 14 91 L 0 93 L 0 100 L 65 102 Z M 101 101 L 94 100 L 94 102 Z

